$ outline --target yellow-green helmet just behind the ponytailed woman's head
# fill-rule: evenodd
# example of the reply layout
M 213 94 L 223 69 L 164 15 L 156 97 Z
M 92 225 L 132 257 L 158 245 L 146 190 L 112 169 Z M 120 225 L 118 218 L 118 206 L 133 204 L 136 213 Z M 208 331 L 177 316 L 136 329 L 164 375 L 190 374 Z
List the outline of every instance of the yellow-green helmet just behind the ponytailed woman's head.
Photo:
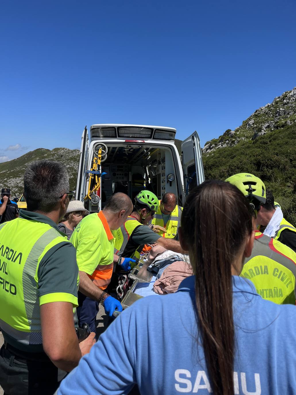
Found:
M 250 173 L 238 173 L 228 177 L 226 182 L 235 185 L 250 201 L 255 198 L 260 203 L 266 202 L 266 188 L 260 178 Z

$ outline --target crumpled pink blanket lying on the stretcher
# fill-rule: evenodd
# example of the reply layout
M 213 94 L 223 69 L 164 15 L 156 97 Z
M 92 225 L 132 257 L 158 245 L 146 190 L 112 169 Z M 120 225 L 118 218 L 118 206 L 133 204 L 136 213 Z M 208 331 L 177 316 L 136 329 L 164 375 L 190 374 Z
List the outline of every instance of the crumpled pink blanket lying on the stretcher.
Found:
M 159 295 L 166 295 L 167 293 L 174 293 L 184 278 L 192 276 L 193 270 L 189 263 L 184 261 L 177 261 L 169 265 L 161 277 L 155 281 L 153 290 Z

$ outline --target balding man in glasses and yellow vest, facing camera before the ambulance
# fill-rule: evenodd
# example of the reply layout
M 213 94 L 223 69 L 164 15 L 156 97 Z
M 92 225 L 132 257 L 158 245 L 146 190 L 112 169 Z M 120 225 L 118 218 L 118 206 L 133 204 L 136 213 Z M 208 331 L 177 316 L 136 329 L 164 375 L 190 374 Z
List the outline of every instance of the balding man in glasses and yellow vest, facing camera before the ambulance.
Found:
M 165 231 L 159 231 L 159 235 L 167 239 L 177 239 L 178 228 L 181 224 L 183 207 L 177 205 L 177 196 L 170 192 L 163 195 L 159 200 L 159 207 L 152 219 L 154 228 L 162 227 Z M 155 231 L 155 229 L 153 230 Z

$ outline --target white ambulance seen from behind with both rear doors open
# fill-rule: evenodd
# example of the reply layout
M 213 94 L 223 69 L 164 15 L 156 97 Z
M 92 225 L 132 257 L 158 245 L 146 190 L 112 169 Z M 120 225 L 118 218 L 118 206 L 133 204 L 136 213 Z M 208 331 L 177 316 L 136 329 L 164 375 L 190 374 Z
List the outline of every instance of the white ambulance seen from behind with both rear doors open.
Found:
M 182 162 L 174 143 L 176 129 L 162 126 L 96 124 L 85 127 L 76 199 L 90 213 L 104 208 L 116 192 L 132 200 L 143 189 L 161 199 L 166 192 L 184 205 L 186 194 L 204 181 L 199 136 L 182 142 Z

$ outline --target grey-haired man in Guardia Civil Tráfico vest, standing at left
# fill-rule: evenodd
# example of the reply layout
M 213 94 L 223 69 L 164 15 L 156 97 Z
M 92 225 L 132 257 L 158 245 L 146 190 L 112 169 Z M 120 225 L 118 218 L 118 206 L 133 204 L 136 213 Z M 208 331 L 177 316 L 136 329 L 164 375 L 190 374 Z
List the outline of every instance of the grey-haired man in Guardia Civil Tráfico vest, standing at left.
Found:
M 78 268 L 58 229 L 69 199 L 64 165 L 41 160 L 24 174 L 28 211 L 0 225 L 0 385 L 9 395 L 54 393 L 94 344 L 74 326 Z M 79 347 L 80 346 L 80 347 Z

